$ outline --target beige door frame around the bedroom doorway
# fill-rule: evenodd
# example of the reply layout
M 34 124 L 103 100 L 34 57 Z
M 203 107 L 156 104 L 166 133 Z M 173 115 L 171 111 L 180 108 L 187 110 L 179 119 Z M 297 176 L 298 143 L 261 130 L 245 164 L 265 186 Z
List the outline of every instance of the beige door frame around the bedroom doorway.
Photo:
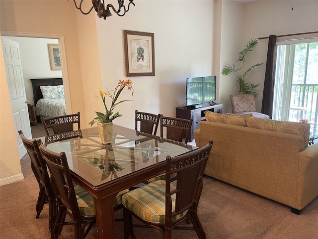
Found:
M 16 36 L 16 37 L 33 37 L 33 38 L 58 39 L 59 48 L 60 48 L 60 57 L 61 57 L 64 93 L 66 93 L 66 94 L 64 94 L 65 95 L 66 111 L 67 111 L 67 114 L 71 114 L 71 112 L 72 112 L 72 103 L 71 103 L 70 84 L 69 84 L 68 67 L 67 67 L 67 61 L 66 61 L 66 51 L 65 51 L 64 36 L 60 35 L 60 34 L 18 32 L 18 31 L 0 31 L 0 35 L 1 36 Z

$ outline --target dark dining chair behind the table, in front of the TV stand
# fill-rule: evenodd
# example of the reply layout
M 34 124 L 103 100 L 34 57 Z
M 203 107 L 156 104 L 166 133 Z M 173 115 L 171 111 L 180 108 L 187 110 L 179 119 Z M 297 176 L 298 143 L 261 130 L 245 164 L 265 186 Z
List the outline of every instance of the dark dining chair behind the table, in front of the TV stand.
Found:
M 193 119 L 163 117 L 160 115 L 160 136 L 178 142 L 188 143 Z M 164 130 L 165 129 L 165 130 Z

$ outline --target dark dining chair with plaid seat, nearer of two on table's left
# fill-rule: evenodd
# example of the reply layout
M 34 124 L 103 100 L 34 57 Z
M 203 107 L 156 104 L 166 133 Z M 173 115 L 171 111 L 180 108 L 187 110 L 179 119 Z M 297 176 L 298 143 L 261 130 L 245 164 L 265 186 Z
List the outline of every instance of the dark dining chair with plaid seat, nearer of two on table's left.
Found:
M 58 200 L 59 210 L 54 226 L 54 238 L 58 238 L 64 225 L 74 224 L 75 239 L 84 239 L 96 222 L 93 198 L 73 182 L 65 152 L 50 151 L 43 145 L 41 139 L 37 143 L 50 170 L 51 179 L 53 179 L 51 181 L 56 188 L 56 196 L 60 199 Z M 122 195 L 125 192 L 128 192 L 128 189 L 118 193 L 114 201 L 114 210 L 121 208 Z M 67 215 L 73 222 L 65 222 Z

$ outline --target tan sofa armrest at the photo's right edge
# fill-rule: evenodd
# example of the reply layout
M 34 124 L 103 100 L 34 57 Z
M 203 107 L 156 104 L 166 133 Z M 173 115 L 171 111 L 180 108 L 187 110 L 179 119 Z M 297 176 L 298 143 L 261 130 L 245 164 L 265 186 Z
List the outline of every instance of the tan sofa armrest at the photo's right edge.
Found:
M 318 195 L 318 143 L 299 152 L 297 208 L 303 209 Z

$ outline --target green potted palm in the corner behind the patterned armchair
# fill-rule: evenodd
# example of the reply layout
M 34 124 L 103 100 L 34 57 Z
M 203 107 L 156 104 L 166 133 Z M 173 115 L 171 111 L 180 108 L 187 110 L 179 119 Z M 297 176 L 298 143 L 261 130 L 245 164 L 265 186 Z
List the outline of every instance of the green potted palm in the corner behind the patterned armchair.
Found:
M 245 78 L 252 69 L 254 69 L 257 66 L 261 66 L 264 63 L 257 63 L 257 64 L 252 65 L 251 67 L 249 67 L 248 69 L 245 70 L 244 69 L 244 62 L 245 62 L 246 53 L 249 51 L 253 51 L 254 48 L 256 47 L 257 43 L 258 43 L 257 39 L 251 39 L 246 44 L 244 49 L 241 50 L 241 52 L 239 52 L 238 62 L 242 63 L 242 66 L 239 69 L 237 69 L 236 66 L 234 64 L 232 64 L 232 65 L 228 65 L 228 66 L 224 67 L 222 69 L 222 72 L 221 72 L 222 75 L 224 75 L 224 76 L 227 76 L 232 72 L 236 72 L 237 73 L 236 81 L 239 84 L 239 94 L 250 94 L 251 93 L 255 96 L 255 98 L 258 96 L 258 90 L 255 88 L 258 87 L 260 84 L 245 82 Z

